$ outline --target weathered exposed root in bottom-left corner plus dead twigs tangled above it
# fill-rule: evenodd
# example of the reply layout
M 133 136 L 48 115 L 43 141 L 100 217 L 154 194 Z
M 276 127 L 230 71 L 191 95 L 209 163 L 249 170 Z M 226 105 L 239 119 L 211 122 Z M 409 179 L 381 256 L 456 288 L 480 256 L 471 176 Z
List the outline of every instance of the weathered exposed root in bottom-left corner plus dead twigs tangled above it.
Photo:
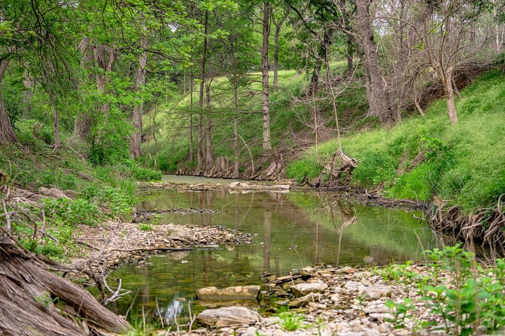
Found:
M 68 266 L 31 251 L 39 235 L 46 234 L 38 228 L 39 219 L 17 209 L 11 198 L 9 177 L 0 171 L 0 334 L 89 335 L 131 329 L 125 318 L 56 273 L 86 274 L 95 281 L 104 300 L 107 289 L 113 297 L 121 296 L 120 286 L 115 290 L 107 285 L 104 288 L 104 282 L 90 268 L 91 260 Z M 31 230 L 33 234 L 26 234 Z M 20 233 L 31 242 L 30 251 L 20 243 Z

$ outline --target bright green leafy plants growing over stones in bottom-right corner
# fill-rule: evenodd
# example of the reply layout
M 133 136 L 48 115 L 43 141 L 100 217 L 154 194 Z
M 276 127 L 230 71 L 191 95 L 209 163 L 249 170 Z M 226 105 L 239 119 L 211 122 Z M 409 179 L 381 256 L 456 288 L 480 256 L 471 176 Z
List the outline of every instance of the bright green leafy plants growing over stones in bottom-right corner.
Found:
M 448 334 L 492 333 L 505 326 L 505 260 L 496 259 L 493 267 L 483 266 L 461 245 L 425 253 L 432 261 L 427 276 L 410 271 L 410 263 L 391 265 L 379 273 L 388 281 L 418 288 L 431 313 L 442 318 L 443 329 Z M 420 327 L 434 327 L 432 321 L 415 320 L 411 314 L 415 307 L 410 298 L 401 303 L 388 300 L 386 306 L 392 309 L 392 322 L 398 327 L 407 318 Z

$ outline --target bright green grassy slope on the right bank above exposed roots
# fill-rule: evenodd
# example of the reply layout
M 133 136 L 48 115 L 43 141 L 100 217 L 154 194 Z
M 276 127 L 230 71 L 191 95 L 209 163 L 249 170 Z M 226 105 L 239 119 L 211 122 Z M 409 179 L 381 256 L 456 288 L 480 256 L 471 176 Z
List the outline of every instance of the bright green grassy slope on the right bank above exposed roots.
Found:
M 491 71 L 462 90 L 459 122 L 450 125 L 445 100 L 434 101 L 426 117 L 412 117 L 390 129 L 346 136 L 344 152 L 360 160 L 352 184 L 385 184 L 386 194 L 429 200 L 433 195 L 470 212 L 505 193 L 505 74 Z M 338 148 L 336 140 L 312 148 L 288 166 L 287 176 L 312 179 Z M 414 158 L 424 160 L 407 172 Z

